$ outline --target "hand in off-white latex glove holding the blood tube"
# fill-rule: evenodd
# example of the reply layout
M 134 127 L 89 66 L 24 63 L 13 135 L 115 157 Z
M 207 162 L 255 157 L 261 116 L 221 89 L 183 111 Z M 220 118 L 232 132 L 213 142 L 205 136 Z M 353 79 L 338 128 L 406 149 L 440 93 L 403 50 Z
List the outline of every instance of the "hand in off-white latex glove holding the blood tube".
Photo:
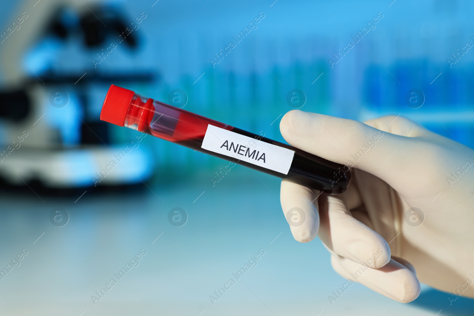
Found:
M 292 110 L 280 130 L 352 167 L 337 196 L 282 181 L 283 213 L 305 213 L 286 216 L 297 241 L 318 235 L 337 273 L 400 302 L 418 297 L 419 280 L 474 297 L 474 150 L 395 116 L 363 124 Z

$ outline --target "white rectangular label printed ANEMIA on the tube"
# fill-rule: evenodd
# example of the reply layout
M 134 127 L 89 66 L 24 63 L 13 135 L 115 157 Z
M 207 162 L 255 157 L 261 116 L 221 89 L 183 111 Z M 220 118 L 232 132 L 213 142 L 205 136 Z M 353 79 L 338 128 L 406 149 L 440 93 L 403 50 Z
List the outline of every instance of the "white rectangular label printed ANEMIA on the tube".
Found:
M 294 150 L 208 125 L 201 148 L 288 174 Z

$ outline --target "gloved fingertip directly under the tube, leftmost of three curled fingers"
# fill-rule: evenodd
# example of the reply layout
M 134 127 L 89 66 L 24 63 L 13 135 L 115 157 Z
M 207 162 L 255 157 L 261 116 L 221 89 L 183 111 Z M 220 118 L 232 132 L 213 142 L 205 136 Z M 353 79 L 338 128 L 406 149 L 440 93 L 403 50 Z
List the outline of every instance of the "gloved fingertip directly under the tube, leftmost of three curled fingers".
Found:
M 300 184 L 282 180 L 280 200 L 283 214 L 293 237 L 300 243 L 310 242 L 318 234 L 319 214 L 313 201 L 319 193 Z

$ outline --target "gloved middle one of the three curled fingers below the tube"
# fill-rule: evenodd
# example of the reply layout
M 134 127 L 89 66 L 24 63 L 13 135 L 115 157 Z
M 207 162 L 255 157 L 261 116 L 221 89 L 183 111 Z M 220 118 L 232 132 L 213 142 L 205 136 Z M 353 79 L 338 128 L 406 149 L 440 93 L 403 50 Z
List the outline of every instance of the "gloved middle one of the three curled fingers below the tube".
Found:
M 375 268 L 390 261 L 390 247 L 374 230 L 354 217 L 338 196 L 319 197 L 318 236 L 334 253 Z

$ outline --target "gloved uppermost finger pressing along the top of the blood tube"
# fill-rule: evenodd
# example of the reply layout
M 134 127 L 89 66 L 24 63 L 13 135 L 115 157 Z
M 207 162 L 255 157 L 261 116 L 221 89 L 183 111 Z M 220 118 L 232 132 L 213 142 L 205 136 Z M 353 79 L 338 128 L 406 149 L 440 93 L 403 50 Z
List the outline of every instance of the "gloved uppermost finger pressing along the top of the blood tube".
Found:
M 387 121 L 387 125 L 389 123 Z M 420 155 L 423 140 L 383 131 L 390 126 L 377 127 L 300 110 L 286 113 L 280 122 L 283 138 L 297 148 L 370 172 L 387 182 L 403 179 L 403 172 L 412 172 L 412 168 L 406 166 L 417 165 L 414 160 L 423 156 Z M 415 151 L 417 155 L 410 154 Z M 409 177 L 410 173 L 406 176 Z

